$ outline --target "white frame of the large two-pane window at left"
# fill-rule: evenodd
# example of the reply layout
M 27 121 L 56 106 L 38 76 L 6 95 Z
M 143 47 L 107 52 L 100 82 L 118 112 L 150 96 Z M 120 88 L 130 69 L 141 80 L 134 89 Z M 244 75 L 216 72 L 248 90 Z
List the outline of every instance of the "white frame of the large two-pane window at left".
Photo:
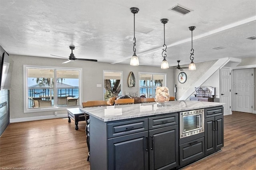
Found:
M 54 69 L 54 82 L 57 82 L 57 74 L 56 70 L 75 70 L 79 71 L 79 103 L 76 106 L 57 106 L 57 99 L 54 98 L 54 106 L 53 107 L 43 107 L 43 108 L 28 108 L 28 72 L 27 69 Z M 56 110 L 66 110 L 68 108 L 80 107 L 82 101 L 82 68 L 72 68 L 72 67 L 50 67 L 50 66 L 39 66 L 39 65 L 23 65 L 23 110 L 24 113 L 32 113 L 32 112 L 42 112 L 42 111 L 56 111 Z M 54 85 L 54 96 L 58 96 L 58 88 L 56 83 Z

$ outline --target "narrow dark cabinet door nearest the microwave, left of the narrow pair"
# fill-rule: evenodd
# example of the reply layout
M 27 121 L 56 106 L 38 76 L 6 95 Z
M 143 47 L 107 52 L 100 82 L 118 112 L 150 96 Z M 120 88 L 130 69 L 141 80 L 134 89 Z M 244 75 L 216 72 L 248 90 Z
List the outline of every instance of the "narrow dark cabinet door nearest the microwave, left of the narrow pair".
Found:
M 204 119 L 205 154 L 215 150 L 215 119 L 210 117 Z

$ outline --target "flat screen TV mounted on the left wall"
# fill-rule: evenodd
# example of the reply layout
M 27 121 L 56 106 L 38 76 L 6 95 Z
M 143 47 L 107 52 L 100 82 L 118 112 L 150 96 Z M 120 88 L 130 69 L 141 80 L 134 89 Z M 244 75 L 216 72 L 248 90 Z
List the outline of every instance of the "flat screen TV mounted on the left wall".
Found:
M 11 89 L 12 66 L 13 61 L 7 52 L 4 52 L 0 57 L 1 74 L 0 74 L 0 89 Z

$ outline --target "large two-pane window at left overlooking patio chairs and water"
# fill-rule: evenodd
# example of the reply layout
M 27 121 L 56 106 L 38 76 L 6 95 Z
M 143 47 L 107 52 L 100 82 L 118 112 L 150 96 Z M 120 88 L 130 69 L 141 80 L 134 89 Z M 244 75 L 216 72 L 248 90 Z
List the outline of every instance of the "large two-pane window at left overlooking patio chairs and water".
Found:
M 81 71 L 24 66 L 24 112 L 79 105 Z

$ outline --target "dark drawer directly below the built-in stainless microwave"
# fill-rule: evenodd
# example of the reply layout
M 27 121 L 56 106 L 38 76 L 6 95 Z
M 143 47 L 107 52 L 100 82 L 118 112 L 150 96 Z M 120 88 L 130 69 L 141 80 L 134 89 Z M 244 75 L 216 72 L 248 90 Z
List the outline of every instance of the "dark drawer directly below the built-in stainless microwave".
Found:
M 180 165 L 198 160 L 204 156 L 204 137 L 180 145 Z

